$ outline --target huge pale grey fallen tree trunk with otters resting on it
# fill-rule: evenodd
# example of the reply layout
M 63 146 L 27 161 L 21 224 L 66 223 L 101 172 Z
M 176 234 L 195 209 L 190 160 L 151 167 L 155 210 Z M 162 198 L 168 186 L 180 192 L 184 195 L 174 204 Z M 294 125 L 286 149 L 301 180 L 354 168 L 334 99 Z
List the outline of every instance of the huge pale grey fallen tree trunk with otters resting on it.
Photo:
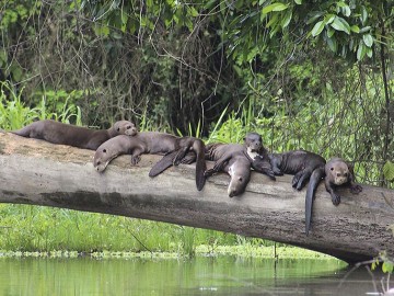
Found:
M 304 195 L 291 187 L 291 177 L 270 181 L 252 173 L 246 192 L 230 198 L 229 177 L 195 185 L 194 164 L 171 168 L 149 178 L 160 156 L 129 156 L 93 169 L 94 151 L 0 133 L 1 203 L 63 207 L 209 228 L 270 239 L 334 255 L 350 263 L 381 251 L 394 253 L 394 191 L 363 185 L 352 195 L 340 191 L 334 206 L 324 184 L 313 206 L 312 229 L 304 234 Z

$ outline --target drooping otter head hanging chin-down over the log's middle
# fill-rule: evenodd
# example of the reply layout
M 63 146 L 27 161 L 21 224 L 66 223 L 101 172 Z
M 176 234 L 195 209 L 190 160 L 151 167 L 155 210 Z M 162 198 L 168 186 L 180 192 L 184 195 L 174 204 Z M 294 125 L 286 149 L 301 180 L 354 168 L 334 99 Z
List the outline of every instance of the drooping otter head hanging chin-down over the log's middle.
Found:
M 228 194 L 230 197 L 240 195 L 246 189 L 246 185 L 251 178 L 251 164 L 250 162 L 241 163 L 235 161 L 230 166 L 228 173 L 231 177 L 228 187 Z

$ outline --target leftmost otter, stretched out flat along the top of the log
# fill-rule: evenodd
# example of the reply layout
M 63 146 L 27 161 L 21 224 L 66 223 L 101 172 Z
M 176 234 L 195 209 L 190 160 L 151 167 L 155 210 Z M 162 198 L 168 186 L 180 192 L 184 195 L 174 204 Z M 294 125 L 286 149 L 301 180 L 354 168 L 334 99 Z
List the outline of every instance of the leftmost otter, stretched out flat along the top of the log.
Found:
M 44 139 L 53 144 L 96 150 L 100 145 L 112 137 L 118 135 L 135 136 L 137 128 L 135 124 L 128 121 L 116 122 L 108 129 L 91 129 L 46 119 L 34 122 L 21 129 L 11 130 L 11 133 L 22 137 Z

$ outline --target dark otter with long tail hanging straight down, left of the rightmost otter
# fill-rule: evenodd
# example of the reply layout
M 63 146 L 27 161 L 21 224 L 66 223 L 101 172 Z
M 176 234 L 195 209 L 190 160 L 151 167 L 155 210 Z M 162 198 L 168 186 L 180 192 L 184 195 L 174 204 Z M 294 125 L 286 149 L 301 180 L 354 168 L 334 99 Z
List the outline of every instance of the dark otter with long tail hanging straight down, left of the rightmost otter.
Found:
M 294 189 L 300 191 L 310 180 L 305 195 L 305 234 L 308 236 L 312 223 L 313 201 L 317 185 L 325 174 L 326 160 L 320 155 L 305 150 L 271 153 L 269 158 L 274 170 L 278 169 L 282 173 L 294 175 L 291 182 Z

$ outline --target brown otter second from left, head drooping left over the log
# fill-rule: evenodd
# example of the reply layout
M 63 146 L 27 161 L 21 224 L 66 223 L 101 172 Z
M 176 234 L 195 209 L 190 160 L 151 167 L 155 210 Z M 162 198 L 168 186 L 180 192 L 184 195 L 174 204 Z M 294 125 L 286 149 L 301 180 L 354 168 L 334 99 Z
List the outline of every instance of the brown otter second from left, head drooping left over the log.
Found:
M 93 166 L 99 172 L 103 172 L 109 161 L 120 155 L 130 153 L 131 164 L 135 166 L 140 161 L 142 153 L 167 155 L 174 151 L 176 153 L 173 161 L 177 164 L 190 150 L 197 156 L 196 185 L 200 191 L 205 184 L 205 145 L 202 140 L 194 137 L 176 137 L 158 132 L 141 132 L 134 137 L 116 136 L 97 148 Z M 150 173 L 149 175 L 153 177 L 154 174 Z

